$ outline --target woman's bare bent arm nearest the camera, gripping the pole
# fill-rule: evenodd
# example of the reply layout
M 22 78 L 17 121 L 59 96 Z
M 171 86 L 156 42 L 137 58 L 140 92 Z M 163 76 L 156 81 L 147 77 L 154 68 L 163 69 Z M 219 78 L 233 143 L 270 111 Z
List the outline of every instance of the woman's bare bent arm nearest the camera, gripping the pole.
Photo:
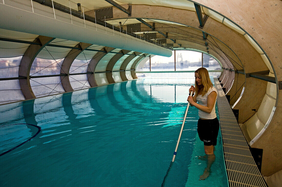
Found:
M 212 91 L 208 95 L 208 106 L 202 106 L 194 101 L 194 98 L 189 96 L 187 101 L 190 103 L 190 105 L 195 106 L 197 109 L 204 111 L 206 113 L 211 113 L 213 106 L 215 104 L 217 93 L 215 91 Z

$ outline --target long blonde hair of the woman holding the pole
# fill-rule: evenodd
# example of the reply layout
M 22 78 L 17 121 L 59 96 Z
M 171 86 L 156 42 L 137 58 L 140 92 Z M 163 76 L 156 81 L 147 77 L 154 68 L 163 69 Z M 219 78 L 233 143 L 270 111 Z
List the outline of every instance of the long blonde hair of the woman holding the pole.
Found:
M 210 76 L 209 76 L 209 72 L 206 68 L 199 68 L 195 71 L 195 73 L 198 73 L 199 76 L 201 77 L 202 79 L 202 84 L 201 85 L 198 85 L 197 82 L 196 82 L 196 79 L 195 79 L 195 94 L 198 95 L 199 91 L 201 90 L 202 92 L 202 96 L 204 96 L 208 90 L 210 89 L 210 87 L 212 86 L 212 83 L 211 83 L 211 79 L 210 79 Z

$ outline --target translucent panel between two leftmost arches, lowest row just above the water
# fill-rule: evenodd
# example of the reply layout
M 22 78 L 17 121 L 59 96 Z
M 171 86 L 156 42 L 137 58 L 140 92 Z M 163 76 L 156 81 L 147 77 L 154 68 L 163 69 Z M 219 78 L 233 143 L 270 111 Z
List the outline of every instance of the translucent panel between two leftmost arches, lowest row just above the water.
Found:
M 60 76 L 30 79 L 30 86 L 36 97 L 65 92 Z

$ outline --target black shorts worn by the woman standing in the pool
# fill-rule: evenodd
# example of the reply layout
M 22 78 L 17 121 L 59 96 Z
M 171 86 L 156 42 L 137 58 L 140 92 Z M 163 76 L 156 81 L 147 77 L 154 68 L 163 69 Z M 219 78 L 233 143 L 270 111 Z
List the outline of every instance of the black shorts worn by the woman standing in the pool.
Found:
M 219 121 L 217 118 L 208 120 L 198 120 L 197 128 L 199 138 L 204 145 L 216 145 L 219 131 Z

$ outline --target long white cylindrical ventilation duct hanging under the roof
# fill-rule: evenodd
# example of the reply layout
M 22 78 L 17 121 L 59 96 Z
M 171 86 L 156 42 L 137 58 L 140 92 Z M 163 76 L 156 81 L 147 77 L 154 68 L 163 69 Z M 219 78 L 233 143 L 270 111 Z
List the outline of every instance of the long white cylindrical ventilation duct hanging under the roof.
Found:
M 106 28 L 89 21 L 85 21 L 83 26 L 71 24 L 69 19 L 65 18 L 70 17 L 70 15 L 66 16 L 64 12 L 55 12 L 56 17 L 60 15 L 60 20 L 54 19 L 54 15 L 51 15 L 52 17 L 43 16 L 46 11 L 53 12 L 53 9 L 38 3 L 33 3 L 37 13 L 28 12 L 25 9 L 29 4 L 30 1 L 28 0 L 22 1 L 21 4 L 17 5 L 17 8 L 0 4 L 2 15 L 0 28 L 166 57 L 172 55 L 170 49 L 146 42 L 137 36 L 132 37 L 120 33 L 120 30 L 115 31 L 113 28 Z

